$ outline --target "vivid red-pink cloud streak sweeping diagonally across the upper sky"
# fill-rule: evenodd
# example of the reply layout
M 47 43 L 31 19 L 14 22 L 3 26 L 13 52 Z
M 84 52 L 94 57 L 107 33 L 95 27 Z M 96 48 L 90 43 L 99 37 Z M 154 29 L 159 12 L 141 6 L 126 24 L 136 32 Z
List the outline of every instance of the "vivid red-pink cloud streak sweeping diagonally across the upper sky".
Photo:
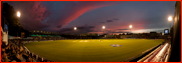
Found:
M 102 4 L 102 3 L 103 2 L 79 2 L 79 4 L 70 3 L 66 5 L 65 9 L 70 7 L 71 9 L 68 9 L 68 11 L 70 10 L 71 11 L 65 16 L 64 19 L 61 19 L 59 22 L 57 22 L 56 26 L 61 25 L 62 27 L 64 27 L 68 23 L 77 19 L 79 16 L 81 16 L 82 14 L 86 12 L 90 12 L 92 10 L 95 10 L 101 7 L 116 5 L 117 2 L 110 2 L 108 4 Z M 59 30 L 61 28 L 54 27 L 54 29 Z

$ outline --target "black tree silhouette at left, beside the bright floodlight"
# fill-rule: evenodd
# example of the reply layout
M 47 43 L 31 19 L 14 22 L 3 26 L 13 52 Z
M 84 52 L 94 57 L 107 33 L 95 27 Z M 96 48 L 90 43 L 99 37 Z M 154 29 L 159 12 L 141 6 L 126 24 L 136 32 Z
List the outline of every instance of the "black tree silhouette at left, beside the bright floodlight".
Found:
M 25 36 L 29 35 L 29 31 L 23 29 L 20 24 L 19 18 L 16 16 L 16 12 L 13 6 L 8 3 L 1 2 L 1 16 L 3 19 L 1 21 L 6 20 L 8 22 L 8 34 L 12 36 L 20 36 L 21 32 L 25 32 Z

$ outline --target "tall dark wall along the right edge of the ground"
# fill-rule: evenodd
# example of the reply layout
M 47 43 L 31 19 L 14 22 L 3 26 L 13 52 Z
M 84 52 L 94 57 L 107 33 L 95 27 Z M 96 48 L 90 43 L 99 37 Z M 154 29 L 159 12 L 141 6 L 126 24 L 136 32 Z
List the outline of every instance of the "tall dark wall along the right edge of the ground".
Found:
M 175 5 L 175 16 L 171 39 L 169 62 L 181 62 L 181 1 Z

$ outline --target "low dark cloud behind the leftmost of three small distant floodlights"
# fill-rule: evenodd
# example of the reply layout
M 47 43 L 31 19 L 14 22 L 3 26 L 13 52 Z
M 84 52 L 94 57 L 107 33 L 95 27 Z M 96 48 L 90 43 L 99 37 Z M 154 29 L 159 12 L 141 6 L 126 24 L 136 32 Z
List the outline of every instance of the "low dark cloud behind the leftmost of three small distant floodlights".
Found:
M 78 26 L 77 30 L 74 30 L 73 27 L 69 27 L 69 28 L 62 28 L 59 33 L 60 34 L 64 34 L 64 33 L 89 33 L 89 32 L 93 32 L 93 28 L 95 28 L 95 26 Z

